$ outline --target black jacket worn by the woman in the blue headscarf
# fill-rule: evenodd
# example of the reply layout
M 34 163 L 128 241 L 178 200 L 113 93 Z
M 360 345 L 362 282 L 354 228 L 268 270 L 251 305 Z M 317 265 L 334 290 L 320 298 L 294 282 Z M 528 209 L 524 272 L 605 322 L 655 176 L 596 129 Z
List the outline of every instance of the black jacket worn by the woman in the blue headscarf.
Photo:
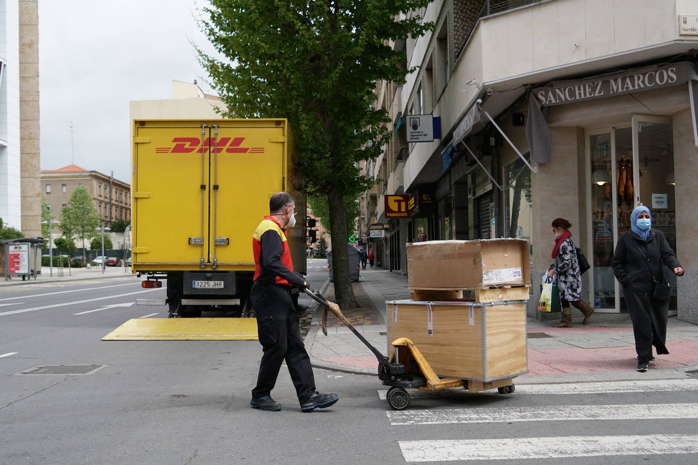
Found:
M 640 250 L 646 254 L 652 266 L 651 270 L 648 268 Z M 616 253 L 611 266 L 613 266 L 616 279 L 624 288 L 644 294 L 654 288 L 652 275 L 657 280 L 666 282 L 662 261 L 664 265 L 671 269 L 672 273 L 674 268 L 681 266 L 662 231 L 650 229 L 647 241 L 644 241 L 632 231 L 625 231 L 618 238 Z

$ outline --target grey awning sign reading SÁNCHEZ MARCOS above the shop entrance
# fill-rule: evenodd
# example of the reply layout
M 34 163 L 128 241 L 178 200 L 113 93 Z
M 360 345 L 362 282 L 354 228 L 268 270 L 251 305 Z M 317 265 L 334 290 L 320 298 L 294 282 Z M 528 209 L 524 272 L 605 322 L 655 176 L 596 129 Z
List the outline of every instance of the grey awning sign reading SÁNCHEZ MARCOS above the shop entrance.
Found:
M 696 79 L 692 63 L 671 63 L 662 66 L 646 66 L 630 71 L 615 70 L 585 79 L 556 81 L 548 86 L 533 89 L 533 95 L 543 107 L 550 107 L 579 102 L 580 100 L 676 86 L 684 84 L 690 79 Z

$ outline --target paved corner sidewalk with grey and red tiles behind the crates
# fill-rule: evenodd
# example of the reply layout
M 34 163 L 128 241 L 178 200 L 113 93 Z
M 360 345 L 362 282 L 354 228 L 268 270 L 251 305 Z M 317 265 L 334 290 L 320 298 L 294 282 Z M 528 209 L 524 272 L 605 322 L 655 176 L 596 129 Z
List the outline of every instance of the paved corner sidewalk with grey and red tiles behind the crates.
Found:
M 378 268 L 362 270 L 354 283 L 359 305 L 371 312 L 348 310 L 349 321 L 379 351 L 387 351 L 386 300 L 410 298 L 407 277 Z M 332 285 L 322 294 L 332 300 Z M 362 303 L 364 305 L 362 305 Z M 328 318 L 325 336 L 319 328 L 322 312 L 315 312 L 305 344 L 314 367 L 339 372 L 376 375 L 378 360 L 371 351 L 334 316 Z M 689 376 L 698 370 L 698 325 L 669 318 L 667 348 L 671 353 L 655 356 L 648 372 L 635 371 L 632 323 L 629 314 L 595 313 L 591 324 L 552 328 L 554 321 L 527 319 L 528 370 L 517 383 L 563 383 L 632 379 L 667 379 Z

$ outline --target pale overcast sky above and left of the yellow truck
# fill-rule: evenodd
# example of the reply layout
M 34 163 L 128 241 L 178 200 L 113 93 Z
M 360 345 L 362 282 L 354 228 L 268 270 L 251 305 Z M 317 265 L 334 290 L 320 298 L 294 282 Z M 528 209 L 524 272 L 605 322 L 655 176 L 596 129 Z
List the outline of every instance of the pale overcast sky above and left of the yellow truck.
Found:
M 131 183 L 128 102 L 172 98 L 172 79 L 211 89 L 189 40 L 205 0 L 39 1 L 41 169 L 75 165 Z

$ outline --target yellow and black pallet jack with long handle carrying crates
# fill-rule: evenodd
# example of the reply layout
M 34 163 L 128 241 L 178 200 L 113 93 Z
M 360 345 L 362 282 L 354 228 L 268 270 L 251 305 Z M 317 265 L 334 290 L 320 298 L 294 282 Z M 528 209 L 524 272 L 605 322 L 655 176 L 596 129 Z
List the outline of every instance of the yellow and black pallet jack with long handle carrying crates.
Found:
M 392 360 L 390 360 L 352 326 L 342 314 L 339 305 L 327 300 L 319 291 L 311 291 L 308 288 L 303 291 L 313 300 L 325 307 L 325 310 L 322 312 L 322 333 L 327 335 L 326 323 L 327 312 L 329 310 L 329 312 L 332 312 L 332 314 L 339 318 L 339 320 L 344 323 L 344 326 L 349 328 L 361 342 L 366 344 L 366 347 L 371 349 L 373 355 L 378 359 L 378 379 L 383 381 L 385 386 L 391 386 L 387 392 L 386 399 L 392 409 L 403 410 L 410 404 L 410 395 L 406 388 L 417 388 L 426 391 L 461 387 L 468 389 L 468 380 L 440 378 L 436 372 L 433 371 L 429 362 L 422 356 L 417 346 L 407 337 L 400 337 L 392 342 L 394 346 L 394 356 Z M 508 383 L 509 381 L 506 382 Z M 495 387 L 500 394 L 511 394 L 514 392 L 514 384 L 491 386 L 491 388 Z

